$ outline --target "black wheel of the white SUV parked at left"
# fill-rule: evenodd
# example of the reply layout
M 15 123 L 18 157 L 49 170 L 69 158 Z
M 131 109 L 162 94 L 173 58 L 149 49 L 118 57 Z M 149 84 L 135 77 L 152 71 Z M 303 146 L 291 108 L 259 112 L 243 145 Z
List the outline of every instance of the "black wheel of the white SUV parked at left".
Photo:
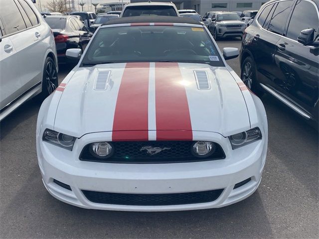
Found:
M 47 57 L 44 63 L 42 92 L 40 98 L 44 100 L 58 87 L 58 74 L 56 66 L 51 57 Z

